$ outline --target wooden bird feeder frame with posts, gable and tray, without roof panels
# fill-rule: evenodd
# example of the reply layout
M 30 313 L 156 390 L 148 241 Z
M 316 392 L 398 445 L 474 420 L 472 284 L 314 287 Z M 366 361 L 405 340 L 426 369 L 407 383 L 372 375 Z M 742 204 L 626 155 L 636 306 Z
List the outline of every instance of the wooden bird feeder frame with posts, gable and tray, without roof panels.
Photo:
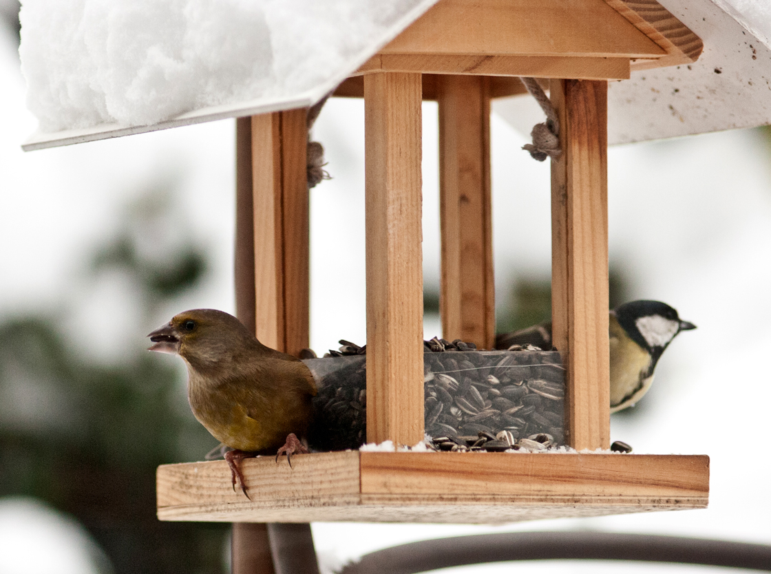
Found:
M 441 315 L 493 347 L 490 99 L 550 90 L 554 344 L 577 450 L 610 447 L 608 80 L 687 64 L 702 42 L 656 2 L 441 0 L 335 92 L 365 102 L 367 441 L 423 439 L 421 102 L 439 102 Z M 306 110 L 238 120 L 238 313 L 258 338 L 308 347 Z M 253 263 L 252 263 L 253 262 Z M 507 522 L 707 505 L 706 456 L 345 451 L 158 470 L 162 520 Z

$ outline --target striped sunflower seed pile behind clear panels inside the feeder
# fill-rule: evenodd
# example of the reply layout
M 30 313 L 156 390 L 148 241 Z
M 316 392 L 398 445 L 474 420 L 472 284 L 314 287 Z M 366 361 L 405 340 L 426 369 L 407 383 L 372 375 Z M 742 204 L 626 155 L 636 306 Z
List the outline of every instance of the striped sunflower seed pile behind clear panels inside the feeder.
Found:
M 311 448 L 359 448 L 366 440 L 365 347 L 305 360 L 318 384 Z M 425 341 L 426 433 L 437 450 L 542 450 L 564 441 L 564 369 L 556 351 L 475 351 Z M 307 356 L 307 355 L 306 355 Z

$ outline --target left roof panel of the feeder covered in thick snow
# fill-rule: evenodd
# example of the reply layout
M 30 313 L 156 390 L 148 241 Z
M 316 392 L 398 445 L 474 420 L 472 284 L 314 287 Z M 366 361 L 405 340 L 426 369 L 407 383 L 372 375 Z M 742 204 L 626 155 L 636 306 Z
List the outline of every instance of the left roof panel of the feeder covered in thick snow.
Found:
M 23 0 L 25 149 L 311 106 L 436 0 Z

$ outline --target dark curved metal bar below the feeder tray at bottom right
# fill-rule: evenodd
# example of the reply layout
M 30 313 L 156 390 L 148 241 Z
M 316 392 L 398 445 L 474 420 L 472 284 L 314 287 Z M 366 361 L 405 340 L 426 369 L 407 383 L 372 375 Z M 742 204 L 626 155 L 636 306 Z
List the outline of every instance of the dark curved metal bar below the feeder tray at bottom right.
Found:
M 611 532 L 506 532 L 423 540 L 362 556 L 340 574 L 416 574 L 513 560 L 631 560 L 771 572 L 771 545 Z

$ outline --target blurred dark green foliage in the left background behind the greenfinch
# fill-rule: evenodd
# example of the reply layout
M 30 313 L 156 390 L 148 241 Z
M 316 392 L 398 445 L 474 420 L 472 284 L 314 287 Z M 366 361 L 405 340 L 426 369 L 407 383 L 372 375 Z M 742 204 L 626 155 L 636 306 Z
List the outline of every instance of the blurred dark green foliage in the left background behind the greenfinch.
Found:
M 207 266 L 183 227 L 172 247 L 143 240 L 141 230 L 180 220 L 169 201 L 126 211 L 122 229 L 93 254 L 88 279 L 123 274 L 146 302 L 126 311 L 146 323 L 196 287 Z M 157 466 L 190 453 L 203 458 L 217 443 L 190 413 L 184 372 L 146 352 L 144 332 L 116 364 L 82 354 L 65 315 L 0 324 L 0 496 L 41 498 L 75 516 L 116 574 L 223 572 L 227 525 L 159 522 L 155 514 Z M 122 327 L 105 317 L 104 336 Z

